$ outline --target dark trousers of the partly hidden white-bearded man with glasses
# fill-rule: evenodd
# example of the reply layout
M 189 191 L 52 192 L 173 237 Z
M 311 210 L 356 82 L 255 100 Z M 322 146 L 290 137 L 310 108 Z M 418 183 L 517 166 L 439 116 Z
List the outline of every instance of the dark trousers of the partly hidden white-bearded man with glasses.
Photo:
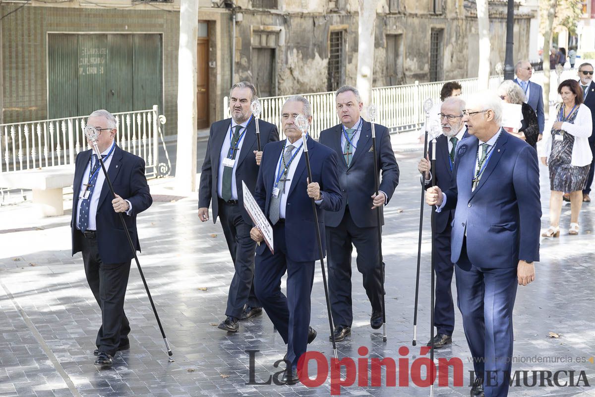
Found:
M 434 237 L 435 253 L 434 272 L 436 273 L 436 302 L 434 302 L 434 326 L 436 332 L 452 336 L 455 329 L 455 305 L 452 299 L 452 275 L 455 265 L 450 261 L 450 232 L 452 226 L 446 225 L 442 233 Z

